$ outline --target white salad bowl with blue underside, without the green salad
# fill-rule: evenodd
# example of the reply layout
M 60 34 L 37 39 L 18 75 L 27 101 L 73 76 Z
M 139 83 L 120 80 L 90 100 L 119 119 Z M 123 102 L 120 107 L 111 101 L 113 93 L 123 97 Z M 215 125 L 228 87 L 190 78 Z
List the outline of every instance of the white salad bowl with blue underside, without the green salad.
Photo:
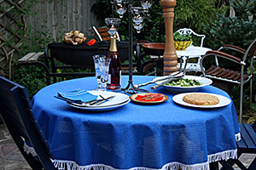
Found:
M 154 78 L 154 80 L 158 80 L 162 77 L 156 77 Z M 167 86 L 167 85 L 163 85 L 163 87 L 167 90 L 170 91 L 172 93 L 178 94 L 178 93 L 185 93 L 185 92 L 196 92 L 198 91 L 200 88 L 208 86 L 210 84 L 212 84 L 212 80 L 206 77 L 196 77 L 196 76 L 184 76 L 183 78 L 187 78 L 187 79 L 195 79 L 197 81 L 199 81 L 201 83 L 200 86 L 194 86 L 194 87 L 180 87 L 180 86 Z M 163 81 L 159 81 L 159 82 L 155 82 L 156 84 L 160 84 Z

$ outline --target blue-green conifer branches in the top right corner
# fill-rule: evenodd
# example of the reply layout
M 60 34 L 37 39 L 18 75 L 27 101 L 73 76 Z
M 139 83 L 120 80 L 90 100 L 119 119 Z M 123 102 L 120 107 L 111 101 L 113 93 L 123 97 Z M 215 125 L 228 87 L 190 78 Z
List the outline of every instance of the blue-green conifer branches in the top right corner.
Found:
M 209 44 L 213 49 L 219 48 L 225 43 L 247 48 L 256 35 L 256 20 L 250 20 L 248 17 L 253 15 L 253 4 L 255 3 L 256 0 L 232 0 L 231 5 L 236 11 L 236 17 L 218 14 L 218 20 L 212 24 L 209 31 L 212 36 Z

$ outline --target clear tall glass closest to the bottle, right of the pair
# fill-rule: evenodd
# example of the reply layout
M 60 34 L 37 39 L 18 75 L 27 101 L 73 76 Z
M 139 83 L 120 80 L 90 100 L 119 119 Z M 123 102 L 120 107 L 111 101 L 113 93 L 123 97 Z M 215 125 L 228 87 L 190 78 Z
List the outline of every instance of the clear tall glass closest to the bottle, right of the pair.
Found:
M 101 66 L 101 81 L 102 81 L 102 91 L 107 91 L 107 82 L 108 82 L 108 70 L 109 70 L 109 64 L 110 64 L 110 58 L 105 58 L 102 60 L 102 66 Z

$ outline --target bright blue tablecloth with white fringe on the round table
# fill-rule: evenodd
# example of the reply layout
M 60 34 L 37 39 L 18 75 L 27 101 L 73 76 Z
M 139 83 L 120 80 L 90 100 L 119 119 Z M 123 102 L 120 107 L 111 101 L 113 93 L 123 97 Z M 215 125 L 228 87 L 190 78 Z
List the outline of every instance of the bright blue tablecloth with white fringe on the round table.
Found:
M 133 77 L 134 84 L 154 77 Z M 122 77 L 122 87 L 128 77 Z M 58 82 L 41 89 L 32 109 L 58 167 L 77 169 L 209 169 L 209 163 L 236 157 L 239 127 L 233 102 L 215 109 L 177 105 L 166 94 L 160 105 L 130 102 L 117 110 L 87 112 L 55 99 L 58 92 L 96 88 L 96 78 Z M 150 85 L 144 87 L 149 89 Z M 201 92 L 230 96 L 207 86 Z

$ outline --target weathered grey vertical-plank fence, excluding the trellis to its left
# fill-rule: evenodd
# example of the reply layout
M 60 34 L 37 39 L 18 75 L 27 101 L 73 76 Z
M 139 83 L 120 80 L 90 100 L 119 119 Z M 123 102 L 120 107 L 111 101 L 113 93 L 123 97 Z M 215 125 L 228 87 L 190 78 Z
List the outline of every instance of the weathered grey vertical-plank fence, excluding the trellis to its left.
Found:
M 26 0 L 28 2 L 28 0 Z M 91 26 L 98 26 L 92 5 L 100 0 L 39 0 L 26 18 L 34 34 L 48 32 L 54 39 L 63 32 L 79 30 L 86 34 Z

